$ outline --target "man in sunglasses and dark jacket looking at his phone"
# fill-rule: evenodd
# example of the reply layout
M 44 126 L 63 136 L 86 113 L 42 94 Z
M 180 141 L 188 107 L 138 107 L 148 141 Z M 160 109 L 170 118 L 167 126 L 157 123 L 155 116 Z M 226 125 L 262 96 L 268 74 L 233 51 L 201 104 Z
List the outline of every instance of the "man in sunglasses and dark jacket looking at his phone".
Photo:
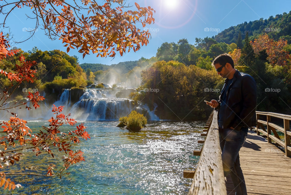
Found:
M 219 100 L 211 100 L 209 104 L 218 110 L 224 176 L 230 173 L 236 195 L 245 195 L 246 184 L 239 164 L 239 150 L 246 140 L 249 127 L 256 125 L 256 82 L 252 76 L 236 70 L 228 54 L 217 56 L 212 66 L 218 75 L 226 78 Z

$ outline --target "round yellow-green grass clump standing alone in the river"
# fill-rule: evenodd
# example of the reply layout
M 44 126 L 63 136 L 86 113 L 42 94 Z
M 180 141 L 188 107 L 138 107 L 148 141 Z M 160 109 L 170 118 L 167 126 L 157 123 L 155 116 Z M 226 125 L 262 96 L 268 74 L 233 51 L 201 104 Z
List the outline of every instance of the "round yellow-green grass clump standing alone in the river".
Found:
M 127 117 L 121 117 L 119 119 L 120 123 L 118 127 L 125 127 L 131 131 L 139 131 L 144 128 L 147 123 L 147 119 L 143 114 L 137 113 L 135 110 L 132 110 Z

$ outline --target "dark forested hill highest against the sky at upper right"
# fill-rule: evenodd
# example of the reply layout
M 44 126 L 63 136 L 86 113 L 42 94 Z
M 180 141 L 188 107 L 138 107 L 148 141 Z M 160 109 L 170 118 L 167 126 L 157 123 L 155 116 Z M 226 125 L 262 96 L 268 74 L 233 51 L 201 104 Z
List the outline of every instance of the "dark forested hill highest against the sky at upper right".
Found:
M 214 39 L 217 42 L 225 42 L 227 44 L 236 43 L 239 32 L 242 38 L 245 38 L 246 31 L 249 32 L 250 40 L 259 37 L 260 34 L 267 33 L 269 37 L 278 40 L 286 39 L 291 43 L 291 11 L 289 14 L 277 14 L 275 17 L 270 16 L 268 19 L 260 18 L 256 21 L 244 22 L 236 26 L 229 27 L 217 34 Z

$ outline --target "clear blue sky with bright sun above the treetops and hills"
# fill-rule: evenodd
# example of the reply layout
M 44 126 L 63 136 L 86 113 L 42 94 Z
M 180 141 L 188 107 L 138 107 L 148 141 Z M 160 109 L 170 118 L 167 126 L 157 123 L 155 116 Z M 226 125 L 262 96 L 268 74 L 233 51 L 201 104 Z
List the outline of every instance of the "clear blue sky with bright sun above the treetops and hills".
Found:
M 271 15 L 289 13 L 291 10 L 291 1 L 289 0 L 135 0 L 126 2 L 129 5 L 134 5 L 134 2 L 137 2 L 141 7 L 151 6 L 156 10 L 153 16 L 155 24 L 146 26 L 152 34 L 152 39 L 149 40 L 147 46 L 142 46 L 136 53 L 133 50 L 124 53 L 122 57 L 117 53 L 114 59 L 96 57 L 92 53 L 82 59 L 82 54 L 78 53 L 76 49 L 71 49 L 68 54 L 78 56 L 80 63 L 107 65 L 138 60 L 141 57 L 150 58 L 156 56 L 157 49 L 164 42 L 177 42 L 186 38 L 189 43 L 194 44 L 195 37 L 212 37 L 230 26 L 259 18 L 267 19 Z M 135 6 L 132 7 L 132 9 L 134 8 Z M 8 16 L 6 26 L 10 27 L 16 41 L 22 41 L 29 37 L 28 32 L 22 31 L 23 28 L 34 28 L 35 21 L 25 16 L 25 14 L 30 14 L 30 11 L 30 9 L 15 9 Z M 205 28 L 210 30 L 205 31 Z M 141 27 L 141 29 L 143 28 Z M 0 31 L 3 31 L 3 28 Z M 63 45 L 61 40 L 50 40 L 44 35 L 44 31 L 38 28 L 32 39 L 15 46 L 24 51 L 31 50 L 34 46 L 43 51 L 54 49 L 66 51 Z

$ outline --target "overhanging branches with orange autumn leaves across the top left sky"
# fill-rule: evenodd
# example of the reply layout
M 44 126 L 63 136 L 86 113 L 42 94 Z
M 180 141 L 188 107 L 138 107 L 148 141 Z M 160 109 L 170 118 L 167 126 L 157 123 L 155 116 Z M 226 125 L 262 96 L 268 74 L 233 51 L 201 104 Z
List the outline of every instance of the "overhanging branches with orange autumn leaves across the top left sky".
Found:
M 122 56 L 127 49 L 128 52 L 131 49 L 137 51 L 140 43 L 143 46 L 149 42 L 148 30 L 140 30 L 135 24 L 141 23 L 145 27 L 155 22 L 151 7 L 142 8 L 135 3 L 136 11 L 123 11 L 124 0 L 105 0 L 104 4 L 95 0 L 69 3 L 63 0 L 5 1 L 0 9 L 0 14 L 4 15 L 0 24 L 5 27 L 6 18 L 15 8 L 30 8 L 34 16 L 29 18 L 35 19 L 35 28 L 29 31 L 30 37 L 42 24 L 49 38 L 61 39 L 67 52 L 80 48 L 83 58 L 90 51 L 97 57 L 114 57 L 115 51 Z M 114 5 L 119 6 L 114 8 Z

